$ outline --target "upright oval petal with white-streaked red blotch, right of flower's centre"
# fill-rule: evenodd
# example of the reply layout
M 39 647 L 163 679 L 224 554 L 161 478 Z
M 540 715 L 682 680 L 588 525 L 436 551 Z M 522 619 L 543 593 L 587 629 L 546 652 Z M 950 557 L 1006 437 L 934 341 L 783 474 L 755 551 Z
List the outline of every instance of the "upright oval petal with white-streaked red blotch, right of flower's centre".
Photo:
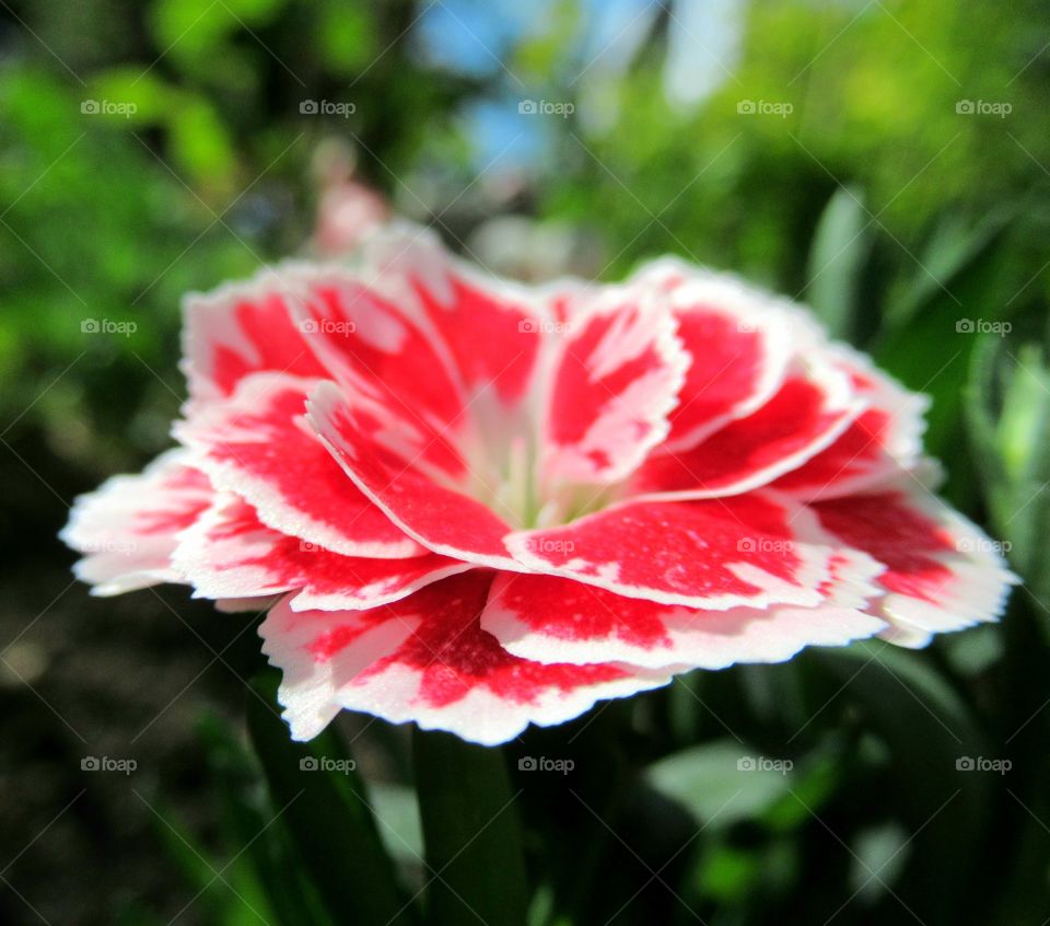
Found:
M 666 306 L 619 287 L 569 325 L 545 396 L 542 478 L 612 483 L 669 429 L 689 355 Z

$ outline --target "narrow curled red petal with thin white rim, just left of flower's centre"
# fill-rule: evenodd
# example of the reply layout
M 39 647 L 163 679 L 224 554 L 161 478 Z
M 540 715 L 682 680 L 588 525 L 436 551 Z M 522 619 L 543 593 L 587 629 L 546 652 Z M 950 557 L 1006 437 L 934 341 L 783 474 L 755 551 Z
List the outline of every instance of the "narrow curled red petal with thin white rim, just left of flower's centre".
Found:
M 510 526 L 488 507 L 420 472 L 385 439 L 383 409 L 319 383 L 308 418 L 346 474 L 408 536 L 478 566 L 521 569 L 506 552 Z

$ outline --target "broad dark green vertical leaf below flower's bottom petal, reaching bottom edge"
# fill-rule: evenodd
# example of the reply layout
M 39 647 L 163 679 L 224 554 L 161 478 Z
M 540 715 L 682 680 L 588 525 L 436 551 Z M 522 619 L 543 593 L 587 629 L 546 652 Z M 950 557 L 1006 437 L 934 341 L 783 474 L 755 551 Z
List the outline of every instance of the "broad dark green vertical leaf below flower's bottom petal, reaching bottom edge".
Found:
M 429 869 L 428 922 L 522 926 L 528 888 L 503 753 L 413 730 L 416 789 Z

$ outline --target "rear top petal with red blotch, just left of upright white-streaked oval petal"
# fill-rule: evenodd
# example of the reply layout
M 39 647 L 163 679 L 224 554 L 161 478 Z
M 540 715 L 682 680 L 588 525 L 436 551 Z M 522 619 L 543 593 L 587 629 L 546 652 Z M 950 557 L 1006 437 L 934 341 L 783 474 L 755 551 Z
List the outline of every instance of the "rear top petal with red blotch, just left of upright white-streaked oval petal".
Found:
M 535 296 L 481 277 L 448 254 L 436 235 L 416 227 L 373 235 L 362 264 L 388 287 L 398 287 L 398 303 L 411 304 L 415 317 L 447 346 L 471 401 L 488 389 L 503 406 L 525 400 L 548 323 Z

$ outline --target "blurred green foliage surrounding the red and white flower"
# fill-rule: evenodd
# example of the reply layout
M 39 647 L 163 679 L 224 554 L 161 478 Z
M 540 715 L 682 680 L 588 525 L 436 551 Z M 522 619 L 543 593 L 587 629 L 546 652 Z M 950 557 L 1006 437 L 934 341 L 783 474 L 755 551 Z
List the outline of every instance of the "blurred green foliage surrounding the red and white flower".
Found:
M 0 465 L 15 562 L 65 569 L 50 540 L 65 509 L 48 485 L 68 501 L 166 445 L 184 395 L 180 297 L 302 247 L 326 138 L 349 143 L 368 182 L 469 256 L 487 255 L 492 219 L 513 215 L 569 229 L 571 246 L 555 238 L 559 253 L 548 245 L 537 273 L 617 278 L 667 252 L 733 269 L 810 300 L 833 332 L 933 396 L 928 445 L 945 461 L 946 491 L 1012 545 L 1026 587 L 1001 626 L 922 653 L 876 644 L 695 673 L 530 731 L 509 750 L 529 919 L 1043 923 L 1045 4 L 743 4 L 738 57 L 708 48 L 707 33 L 687 36 L 721 72 L 689 103 L 666 92 L 668 49 L 689 31 L 684 3 L 635 18 L 644 28 L 625 55 L 609 53 L 611 35 L 591 40 L 600 4 L 550 0 L 494 51 L 478 37 L 493 13 L 451 5 L 480 67 L 428 50 L 421 30 L 444 3 L 2 4 Z M 575 112 L 518 119 L 525 99 Z M 304 100 L 352 102 L 354 113 L 311 116 Z M 91 101 L 122 108 L 93 113 Z M 779 111 L 748 114 L 747 103 Z M 103 320 L 135 329 L 85 329 Z M 425 886 L 396 736 L 373 744 L 387 773 L 373 796 L 378 837 L 357 778 L 270 826 L 314 787 L 287 765 L 306 753 L 275 757 L 280 741 L 257 728 L 264 775 L 238 732 L 206 725 L 202 736 L 222 833 L 206 846 L 158 826 L 190 889 L 168 915 L 200 891 L 188 921 L 346 922 L 331 904 L 350 882 L 302 864 L 324 847 L 304 844 L 306 814 L 347 827 L 334 845 L 364 833 L 369 870 L 384 869 L 385 843 L 398 882 L 375 908 Z M 572 756 L 576 768 L 527 777 L 513 771 L 517 754 Z M 792 766 L 748 777 L 736 764 L 746 756 Z M 1012 769 L 964 774 L 966 756 Z M 354 922 L 370 922 L 369 908 Z M 137 904 L 126 922 L 153 918 Z

